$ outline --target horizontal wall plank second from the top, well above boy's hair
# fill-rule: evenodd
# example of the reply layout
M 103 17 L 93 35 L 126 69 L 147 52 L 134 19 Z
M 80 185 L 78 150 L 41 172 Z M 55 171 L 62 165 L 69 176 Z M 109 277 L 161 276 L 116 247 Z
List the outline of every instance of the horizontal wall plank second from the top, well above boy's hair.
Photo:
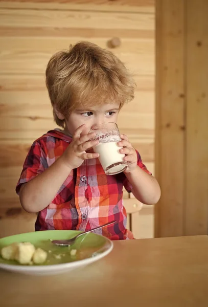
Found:
M 153 30 L 154 16 L 128 12 L 0 9 L 2 26 Z

